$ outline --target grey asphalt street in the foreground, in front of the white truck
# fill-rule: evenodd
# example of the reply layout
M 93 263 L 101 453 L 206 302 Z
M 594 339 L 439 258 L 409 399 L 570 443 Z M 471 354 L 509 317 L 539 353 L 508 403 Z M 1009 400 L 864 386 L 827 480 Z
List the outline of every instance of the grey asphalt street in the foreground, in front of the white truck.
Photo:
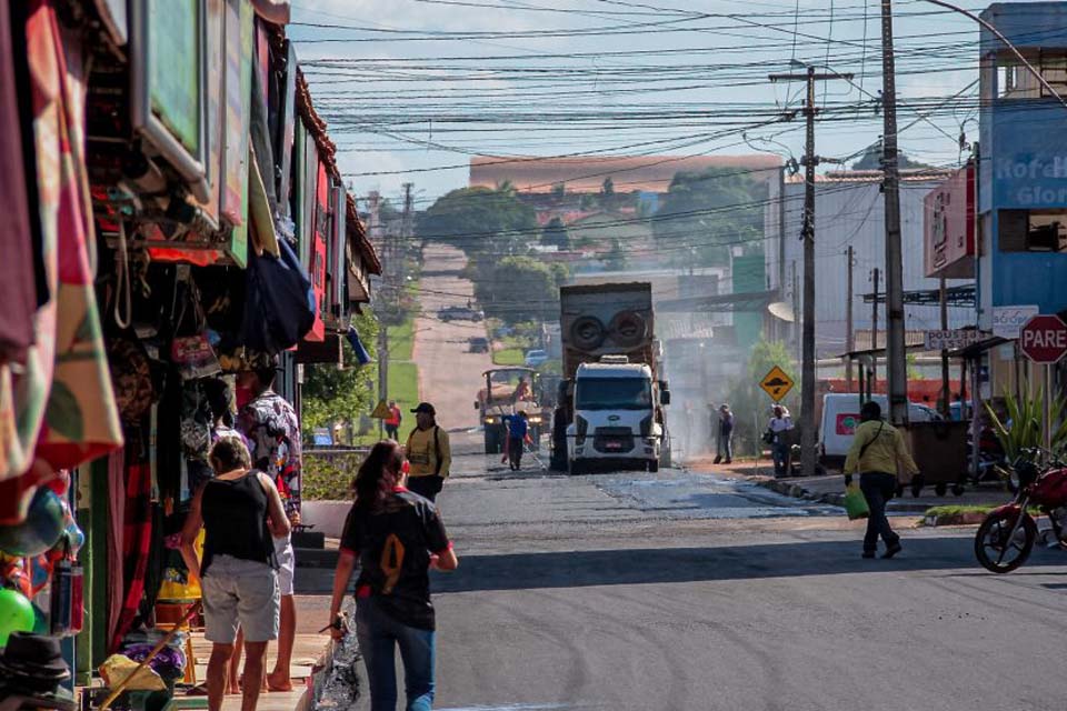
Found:
M 938 529 L 862 560 L 832 507 L 481 454 L 457 458 L 439 503 L 460 569 L 433 579 L 438 709 L 1067 707 L 1067 553 L 996 577 L 973 529 Z

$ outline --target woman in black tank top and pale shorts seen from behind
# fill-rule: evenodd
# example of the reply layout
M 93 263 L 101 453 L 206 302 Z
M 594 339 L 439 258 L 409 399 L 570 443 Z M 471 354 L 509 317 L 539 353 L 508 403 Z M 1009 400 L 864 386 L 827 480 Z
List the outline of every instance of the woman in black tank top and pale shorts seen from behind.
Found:
M 267 643 L 278 637 L 281 595 L 272 537 L 289 533 L 275 482 L 252 469 L 245 441 L 222 437 L 211 448 L 217 475 L 192 498 L 181 532 L 181 557 L 203 592 L 208 662 L 208 708 L 219 711 L 226 695 L 227 668 L 237 629 L 245 637 L 242 711 L 255 711 L 263 681 Z M 205 530 L 203 561 L 193 548 Z

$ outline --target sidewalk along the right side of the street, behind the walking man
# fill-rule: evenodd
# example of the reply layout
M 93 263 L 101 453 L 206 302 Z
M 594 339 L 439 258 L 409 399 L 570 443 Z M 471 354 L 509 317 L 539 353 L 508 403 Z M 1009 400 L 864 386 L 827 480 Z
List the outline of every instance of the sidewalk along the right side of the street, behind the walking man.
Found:
M 825 477 L 787 477 L 775 479 L 774 465 L 768 460 L 760 460 L 758 467 L 754 462 L 735 462 L 732 464 L 712 464 L 712 458 L 697 459 L 688 464 L 689 470 L 697 473 L 717 474 L 729 479 L 745 479 L 772 491 L 809 501 L 819 501 L 832 505 L 842 505 L 845 498 L 844 474 L 827 474 Z M 894 513 L 925 513 L 931 507 L 961 507 L 989 505 L 1007 503 L 1011 494 L 993 487 L 967 490 L 959 497 L 948 493 L 938 497 L 933 487 L 925 487 L 919 495 L 913 497 L 905 487 L 904 494 L 889 502 L 887 510 Z

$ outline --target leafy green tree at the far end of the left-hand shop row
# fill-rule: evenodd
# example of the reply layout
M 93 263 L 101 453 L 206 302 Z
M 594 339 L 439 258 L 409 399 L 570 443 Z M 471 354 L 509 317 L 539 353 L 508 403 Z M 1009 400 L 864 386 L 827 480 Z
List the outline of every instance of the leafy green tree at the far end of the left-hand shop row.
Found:
M 378 322 L 369 312 L 352 318 L 359 340 L 375 358 L 378 342 Z M 338 423 L 356 423 L 360 415 L 369 414 L 375 407 L 373 368 L 359 365 L 356 352 L 348 340 L 341 339 L 345 365 L 328 363 L 307 364 L 303 368 L 301 397 L 301 429 L 306 439 L 316 428 Z

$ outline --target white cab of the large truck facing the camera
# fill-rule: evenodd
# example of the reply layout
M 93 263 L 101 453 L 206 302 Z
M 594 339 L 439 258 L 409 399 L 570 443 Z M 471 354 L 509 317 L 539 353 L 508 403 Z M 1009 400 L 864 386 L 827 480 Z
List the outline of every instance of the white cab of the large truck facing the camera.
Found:
M 567 425 L 568 471 L 596 463 L 659 470 L 664 440 L 662 404 L 669 393 L 645 363 L 605 356 L 581 363 L 574 379 L 574 415 Z

